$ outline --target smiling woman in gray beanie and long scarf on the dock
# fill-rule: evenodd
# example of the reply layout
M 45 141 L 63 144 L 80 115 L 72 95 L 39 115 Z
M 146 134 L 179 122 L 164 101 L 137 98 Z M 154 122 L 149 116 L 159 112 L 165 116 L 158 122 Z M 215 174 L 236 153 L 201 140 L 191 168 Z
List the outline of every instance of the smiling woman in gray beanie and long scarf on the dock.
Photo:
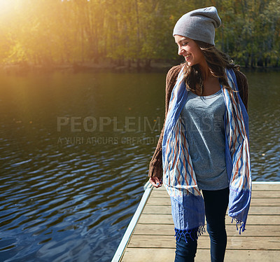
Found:
M 194 261 L 204 216 L 211 261 L 223 261 L 225 212 L 245 230 L 251 200 L 246 76 L 215 48 L 215 7 L 183 15 L 173 36 L 186 63 L 167 74 L 165 125 L 150 163 L 150 182 L 167 188 L 175 261 Z

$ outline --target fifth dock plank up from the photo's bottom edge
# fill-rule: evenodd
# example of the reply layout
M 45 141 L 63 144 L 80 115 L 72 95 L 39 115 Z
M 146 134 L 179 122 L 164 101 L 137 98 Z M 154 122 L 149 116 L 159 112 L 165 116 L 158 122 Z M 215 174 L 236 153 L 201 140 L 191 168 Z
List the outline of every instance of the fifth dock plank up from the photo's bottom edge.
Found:
M 146 205 L 143 214 L 171 214 L 171 205 Z M 280 215 L 279 207 L 250 207 L 249 214 Z

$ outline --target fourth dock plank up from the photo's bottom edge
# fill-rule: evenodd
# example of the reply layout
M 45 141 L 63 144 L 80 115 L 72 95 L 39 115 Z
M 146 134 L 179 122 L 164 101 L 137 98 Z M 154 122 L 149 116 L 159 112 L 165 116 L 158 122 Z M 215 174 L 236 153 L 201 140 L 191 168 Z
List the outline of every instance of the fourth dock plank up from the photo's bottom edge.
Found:
M 229 216 L 225 216 L 225 223 L 231 224 L 232 219 Z M 155 224 L 174 224 L 171 214 L 160 214 L 155 216 L 154 214 L 142 214 L 138 223 L 155 223 Z M 280 217 L 277 215 L 250 215 L 247 219 L 247 225 L 280 225 Z

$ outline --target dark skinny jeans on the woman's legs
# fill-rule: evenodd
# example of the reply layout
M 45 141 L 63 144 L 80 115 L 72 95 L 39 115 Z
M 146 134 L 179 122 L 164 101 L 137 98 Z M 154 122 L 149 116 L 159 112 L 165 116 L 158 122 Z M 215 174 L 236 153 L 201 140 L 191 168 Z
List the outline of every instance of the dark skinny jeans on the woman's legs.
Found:
M 225 188 L 218 191 L 202 190 L 207 231 L 211 240 L 211 262 L 223 262 L 225 247 L 227 246 L 227 233 L 225 231 L 225 213 L 228 209 L 230 190 Z M 187 236 L 176 242 L 175 262 L 193 262 L 197 251 L 197 240 Z

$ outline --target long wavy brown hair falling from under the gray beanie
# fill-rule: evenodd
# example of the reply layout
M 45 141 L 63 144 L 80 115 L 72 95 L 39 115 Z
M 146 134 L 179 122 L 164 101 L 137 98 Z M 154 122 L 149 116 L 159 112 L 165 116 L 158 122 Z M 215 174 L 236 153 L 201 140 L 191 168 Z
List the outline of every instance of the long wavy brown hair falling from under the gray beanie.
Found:
M 239 70 L 239 65 L 235 64 L 230 57 L 225 53 L 218 50 L 215 46 L 202 41 L 194 40 L 195 43 L 200 47 L 202 53 L 207 61 L 211 75 L 217 77 L 221 85 L 232 92 L 230 85 L 228 84 L 227 77 L 225 75 L 225 69 L 236 69 Z M 204 90 L 202 72 L 200 66 L 195 64 L 191 67 L 186 63 L 185 67 L 185 81 L 188 90 L 202 95 Z M 197 86 L 199 89 L 197 90 Z

